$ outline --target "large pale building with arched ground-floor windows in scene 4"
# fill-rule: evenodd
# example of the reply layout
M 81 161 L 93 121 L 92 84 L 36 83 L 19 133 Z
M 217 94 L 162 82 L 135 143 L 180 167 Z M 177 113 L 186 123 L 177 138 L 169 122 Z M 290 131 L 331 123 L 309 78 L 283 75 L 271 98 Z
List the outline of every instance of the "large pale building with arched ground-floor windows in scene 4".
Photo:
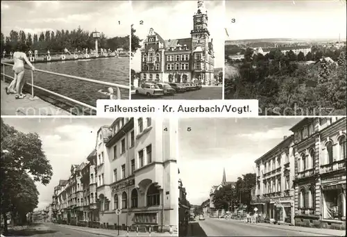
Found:
M 100 223 L 153 231 L 178 227 L 177 122 L 117 118 L 98 131 L 97 198 Z

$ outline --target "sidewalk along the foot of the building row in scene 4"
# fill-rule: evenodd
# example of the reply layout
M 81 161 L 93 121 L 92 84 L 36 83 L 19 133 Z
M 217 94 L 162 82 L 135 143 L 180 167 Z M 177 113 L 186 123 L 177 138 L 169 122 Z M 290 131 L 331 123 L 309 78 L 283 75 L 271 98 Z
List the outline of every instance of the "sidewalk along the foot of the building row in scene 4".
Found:
M 86 232 L 86 233 L 90 233 L 90 234 L 100 234 L 103 236 L 111 236 L 111 237 L 115 237 L 118 236 L 118 231 L 117 230 L 113 230 L 113 229 L 94 229 L 94 228 L 89 228 L 89 227 L 76 227 L 76 226 L 71 226 L 71 225 L 67 225 L 67 224 L 55 224 L 58 225 L 59 227 L 62 228 L 67 228 L 67 229 L 74 229 L 76 231 L 82 231 L 82 232 Z M 178 236 L 177 233 L 174 234 L 169 234 L 169 233 L 155 233 L 152 232 L 151 234 L 149 234 L 149 232 L 139 232 L 138 234 L 134 231 L 130 232 L 129 231 L 129 235 L 127 235 L 127 231 L 123 231 L 123 230 L 119 230 L 119 236 Z

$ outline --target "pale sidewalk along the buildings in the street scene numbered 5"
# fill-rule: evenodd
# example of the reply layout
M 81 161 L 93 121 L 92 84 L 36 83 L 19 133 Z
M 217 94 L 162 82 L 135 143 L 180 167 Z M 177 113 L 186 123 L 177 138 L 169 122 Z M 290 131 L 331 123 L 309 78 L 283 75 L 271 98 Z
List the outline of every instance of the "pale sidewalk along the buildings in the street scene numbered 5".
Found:
M 225 220 L 225 219 L 220 219 Z M 237 222 L 243 222 L 242 220 L 226 220 L 226 221 L 237 221 Z M 341 231 L 338 229 L 318 229 L 318 228 L 310 228 L 310 227 L 297 227 L 297 226 L 291 226 L 287 224 L 269 224 L 269 223 L 244 223 L 247 225 L 260 225 L 263 227 L 269 227 L 273 229 L 285 229 L 285 230 L 292 230 L 292 231 L 299 231 L 299 232 L 305 232 L 310 234 L 324 234 L 326 236 L 346 236 L 346 231 Z

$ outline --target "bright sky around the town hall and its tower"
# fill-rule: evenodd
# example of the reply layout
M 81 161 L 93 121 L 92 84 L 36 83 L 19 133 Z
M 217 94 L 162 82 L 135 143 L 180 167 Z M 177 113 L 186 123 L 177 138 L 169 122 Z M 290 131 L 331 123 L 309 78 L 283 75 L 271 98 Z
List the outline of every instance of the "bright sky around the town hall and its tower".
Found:
M 145 39 L 149 28 L 158 33 L 164 40 L 190 38 L 193 29 L 193 15 L 198 9 L 197 1 L 132 1 L 133 27 L 135 35 Z M 208 30 L 213 38 L 214 67 L 224 64 L 224 28 L 223 1 L 205 1 L 208 10 Z M 140 24 L 140 21 L 143 21 Z M 138 51 L 132 60 L 132 69 L 141 69 L 141 52 Z

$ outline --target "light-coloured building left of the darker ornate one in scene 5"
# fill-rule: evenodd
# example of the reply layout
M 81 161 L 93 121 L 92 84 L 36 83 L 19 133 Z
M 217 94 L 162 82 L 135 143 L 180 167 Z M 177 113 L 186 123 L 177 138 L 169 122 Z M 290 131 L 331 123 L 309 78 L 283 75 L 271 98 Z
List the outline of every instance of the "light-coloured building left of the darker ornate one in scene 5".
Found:
M 255 160 L 256 185 L 251 204 L 270 222 L 294 224 L 293 136 L 285 136 L 276 147 Z

